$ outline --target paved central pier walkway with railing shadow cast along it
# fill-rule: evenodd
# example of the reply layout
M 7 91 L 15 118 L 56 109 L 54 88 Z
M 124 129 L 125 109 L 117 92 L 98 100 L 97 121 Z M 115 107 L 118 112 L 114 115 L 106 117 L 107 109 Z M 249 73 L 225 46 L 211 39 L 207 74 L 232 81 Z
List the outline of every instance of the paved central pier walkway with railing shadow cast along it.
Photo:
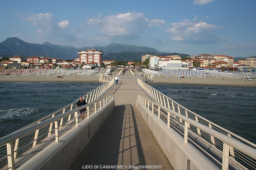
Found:
M 70 170 L 83 169 L 86 165 L 123 165 L 124 170 L 152 169 L 149 165 L 158 165 L 156 169 L 173 170 L 135 107 L 138 94 L 147 96 L 136 82 L 137 77 L 130 71 L 119 76 L 119 84 L 115 85 L 118 88 L 114 93 L 115 108 Z

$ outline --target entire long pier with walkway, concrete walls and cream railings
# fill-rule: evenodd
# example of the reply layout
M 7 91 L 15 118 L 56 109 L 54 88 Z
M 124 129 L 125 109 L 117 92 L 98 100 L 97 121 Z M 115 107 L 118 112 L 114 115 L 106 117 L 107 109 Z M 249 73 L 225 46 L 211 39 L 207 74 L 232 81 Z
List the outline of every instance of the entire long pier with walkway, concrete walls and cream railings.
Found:
M 255 144 L 179 105 L 135 75 L 127 71 L 118 84 L 108 77 L 83 96 L 85 106 L 75 108 L 74 101 L 2 137 L 1 170 L 100 169 L 97 165 L 125 170 L 256 168 Z M 78 116 L 81 108 L 87 108 L 83 121 Z

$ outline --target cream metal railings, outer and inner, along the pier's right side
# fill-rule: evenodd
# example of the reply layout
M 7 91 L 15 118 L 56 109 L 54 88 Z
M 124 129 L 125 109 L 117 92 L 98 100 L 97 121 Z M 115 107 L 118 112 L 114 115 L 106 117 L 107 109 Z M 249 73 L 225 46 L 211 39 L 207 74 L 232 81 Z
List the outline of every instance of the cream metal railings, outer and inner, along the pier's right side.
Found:
M 236 135 L 235 133 L 232 133 L 225 128 L 205 119 L 204 117 L 192 112 L 191 110 L 188 110 L 184 106 L 178 104 L 177 102 L 173 101 L 163 93 L 159 92 L 158 90 L 154 89 L 153 87 L 149 86 L 142 80 L 138 79 L 138 83 L 143 87 L 157 102 L 160 108 L 166 108 L 168 112 L 172 110 L 172 114 L 175 117 L 175 119 L 184 124 L 184 126 L 188 126 L 189 130 L 191 132 L 197 134 L 201 139 L 206 141 L 210 146 L 215 148 L 216 150 L 219 150 L 220 152 L 223 152 L 223 148 L 225 148 L 225 158 L 226 156 L 229 159 L 234 160 L 239 166 L 243 167 L 244 169 L 255 169 L 256 168 L 256 144 L 240 137 L 239 135 Z M 146 99 L 144 99 L 146 100 Z M 147 105 L 147 102 L 144 103 Z M 179 116 L 177 116 L 179 115 Z M 184 117 L 186 117 L 186 121 L 184 121 Z M 185 124 L 185 122 L 189 121 L 195 121 L 200 124 L 200 126 L 207 126 L 211 129 L 211 131 L 214 131 L 214 133 L 223 134 L 227 138 L 224 138 L 226 141 L 223 141 L 223 138 L 218 138 L 212 135 L 211 133 L 208 133 L 208 131 L 205 131 L 205 129 L 199 128 L 198 124 L 195 126 L 194 124 Z M 189 122 L 190 123 L 190 122 Z M 230 139 L 228 141 L 227 139 Z M 233 142 L 236 141 L 236 143 L 241 144 L 241 146 L 248 146 L 250 149 L 250 153 L 245 151 L 243 147 L 234 145 Z M 224 142 L 224 144 L 223 144 Z M 228 144 L 228 145 L 226 145 Z M 238 144 L 238 145 L 239 145 Z M 252 155 L 251 153 L 254 153 L 255 155 Z M 225 161 L 228 161 L 225 159 Z M 225 167 L 227 165 L 225 164 Z

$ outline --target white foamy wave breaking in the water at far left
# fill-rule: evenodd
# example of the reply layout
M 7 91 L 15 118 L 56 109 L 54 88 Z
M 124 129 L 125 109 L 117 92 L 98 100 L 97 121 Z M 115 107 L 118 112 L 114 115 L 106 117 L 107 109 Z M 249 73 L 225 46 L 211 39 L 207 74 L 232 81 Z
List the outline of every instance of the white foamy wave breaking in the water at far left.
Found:
M 12 119 L 17 116 L 30 115 L 31 113 L 38 112 L 37 108 L 18 108 L 9 110 L 0 110 L 0 121 L 4 119 Z

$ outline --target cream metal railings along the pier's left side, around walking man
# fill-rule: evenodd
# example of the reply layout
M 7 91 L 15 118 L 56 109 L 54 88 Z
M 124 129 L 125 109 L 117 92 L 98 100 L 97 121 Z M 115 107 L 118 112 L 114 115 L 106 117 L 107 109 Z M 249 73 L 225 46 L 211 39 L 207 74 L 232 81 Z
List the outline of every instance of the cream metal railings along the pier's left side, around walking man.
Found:
M 28 155 L 36 148 L 35 146 L 42 144 L 43 141 L 53 142 L 52 139 L 55 138 L 55 141 L 58 142 L 59 136 L 66 132 L 63 128 L 73 127 L 74 124 L 78 126 L 78 111 L 82 108 L 87 108 L 87 118 L 89 118 L 89 115 L 113 100 L 113 95 L 96 100 L 113 82 L 114 79 L 84 95 L 83 99 L 87 103 L 84 106 L 76 108 L 77 99 L 56 112 L 0 138 L 0 169 L 14 170 L 15 163 L 19 158 L 24 154 Z

